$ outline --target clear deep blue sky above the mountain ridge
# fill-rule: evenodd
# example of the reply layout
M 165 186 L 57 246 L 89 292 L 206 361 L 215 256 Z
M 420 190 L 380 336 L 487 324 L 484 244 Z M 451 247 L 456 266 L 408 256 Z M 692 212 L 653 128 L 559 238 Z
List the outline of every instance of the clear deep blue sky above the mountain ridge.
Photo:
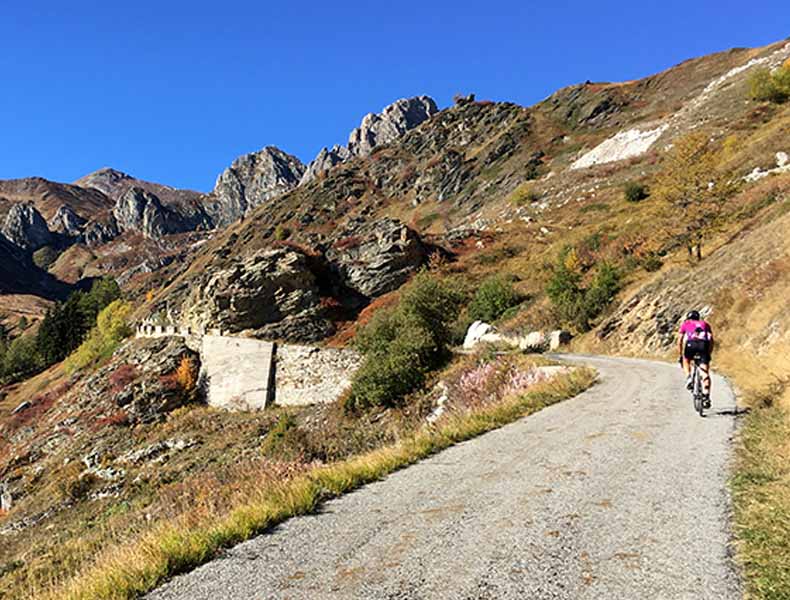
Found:
M 0 178 L 112 166 L 207 191 L 240 154 L 309 161 L 396 98 L 532 104 L 788 25 L 786 0 L 2 2 Z

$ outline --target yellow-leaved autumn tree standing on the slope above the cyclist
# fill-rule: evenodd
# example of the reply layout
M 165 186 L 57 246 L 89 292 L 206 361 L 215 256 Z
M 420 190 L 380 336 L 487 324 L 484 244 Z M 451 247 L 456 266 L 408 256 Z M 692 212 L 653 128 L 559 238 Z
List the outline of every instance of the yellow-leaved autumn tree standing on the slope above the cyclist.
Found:
M 706 133 L 692 132 L 675 142 L 656 176 L 652 195 L 667 203 L 673 225 L 681 223 L 681 239 L 690 257 L 696 251 L 697 260 L 737 189 L 737 180 L 723 169 L 731 146 L 714 145 Z

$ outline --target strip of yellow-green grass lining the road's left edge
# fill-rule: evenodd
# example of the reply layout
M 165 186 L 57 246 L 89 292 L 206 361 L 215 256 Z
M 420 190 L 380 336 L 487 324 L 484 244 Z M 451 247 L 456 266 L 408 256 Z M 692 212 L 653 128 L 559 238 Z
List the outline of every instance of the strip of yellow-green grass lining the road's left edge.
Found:
M 453 444 L 570 398 L 594 381 L 592 370 L 574 369 L 496 405 L 452 412 L 434 427 L 413 433 L 396 444 L 316 467 L 285 482 L 261 486 L 224 515 L 212 511 L 187 512 L 135 541 L 101 553 L 72 580 L 50 588 L 41 597 L 53 600 L 137 597 L 166 579 L 205 563 L 223 548 L 262 533 L 289 517 L 310 513 L 329 498 L 376 481 Z

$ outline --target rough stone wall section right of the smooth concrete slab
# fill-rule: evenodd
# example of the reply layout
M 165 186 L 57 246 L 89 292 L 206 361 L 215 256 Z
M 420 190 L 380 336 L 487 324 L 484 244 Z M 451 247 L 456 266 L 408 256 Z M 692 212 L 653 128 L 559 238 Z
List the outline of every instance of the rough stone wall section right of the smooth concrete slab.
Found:
M 361 362 L 353 350 L 278 344 L 275 401 L 281 406 L 334 402 Z

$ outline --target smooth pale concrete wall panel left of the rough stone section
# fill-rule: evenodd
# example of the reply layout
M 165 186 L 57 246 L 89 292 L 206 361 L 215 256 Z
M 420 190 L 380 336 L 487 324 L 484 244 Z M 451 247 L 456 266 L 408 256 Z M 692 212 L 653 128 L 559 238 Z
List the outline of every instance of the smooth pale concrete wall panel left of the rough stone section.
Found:
M 210 406 L 260 410 L 272 395 L 273 344 L 249 338 L 206 335 L 200 358 Z

